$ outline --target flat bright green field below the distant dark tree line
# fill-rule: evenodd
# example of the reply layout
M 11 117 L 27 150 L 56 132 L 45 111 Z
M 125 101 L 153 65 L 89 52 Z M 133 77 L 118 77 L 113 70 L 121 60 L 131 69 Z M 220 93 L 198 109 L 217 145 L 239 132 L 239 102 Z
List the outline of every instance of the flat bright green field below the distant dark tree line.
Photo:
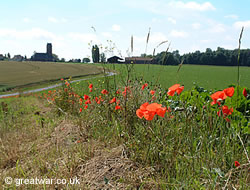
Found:
M 121 77 L 126 76 L 125 65 L 108 65 L 108 68 L 113 67 L 122 73 Z M 183 65 L 177 73 L 178 68 L 178 66 L 134 65 L 131 77 L 140 77 L 153 84 L 161 84 L 164 88 L 180 83 L 185 85 L 185 89 L 190 89 L 196 83 L 205 89 L 222 89 L 237 83 L 237 67 Z M 250 87 L 249 67 L 240 67 L 240 85 Z

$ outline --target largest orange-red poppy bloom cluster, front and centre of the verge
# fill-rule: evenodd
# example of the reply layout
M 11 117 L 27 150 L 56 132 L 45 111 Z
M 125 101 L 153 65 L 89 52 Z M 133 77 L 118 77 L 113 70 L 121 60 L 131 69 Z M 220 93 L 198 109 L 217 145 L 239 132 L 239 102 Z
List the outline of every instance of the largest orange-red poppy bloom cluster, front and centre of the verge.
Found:
M 159 115 L 160 117 L 164 117 L 167 108 L 163 108 L 161 104 L 152 103 L 148 104 L 148 102 L 142 104 L 140 109 L 136 111 L 136 115 L 142 119 L 143 117 L 146 120 L 152 120 L 155 114 Z

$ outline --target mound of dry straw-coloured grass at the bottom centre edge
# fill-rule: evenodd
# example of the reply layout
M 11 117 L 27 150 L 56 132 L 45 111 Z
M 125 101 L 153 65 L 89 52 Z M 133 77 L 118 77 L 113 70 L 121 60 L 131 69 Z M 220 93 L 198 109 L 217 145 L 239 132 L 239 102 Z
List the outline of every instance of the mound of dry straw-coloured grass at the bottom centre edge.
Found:
M 89 189 L 140 187 L 152 172 L 129 160 L 123 146 L 102 151 L 79 168 L 78 175 Z

